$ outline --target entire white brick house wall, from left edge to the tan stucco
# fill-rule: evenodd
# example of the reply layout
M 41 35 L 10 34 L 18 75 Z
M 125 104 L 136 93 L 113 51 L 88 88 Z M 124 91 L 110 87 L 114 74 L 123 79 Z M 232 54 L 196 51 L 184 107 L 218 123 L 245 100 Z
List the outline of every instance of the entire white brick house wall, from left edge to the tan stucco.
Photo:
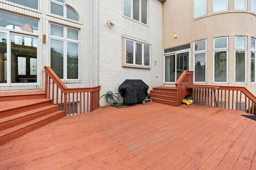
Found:
M 96 11 L 98 2 L 98 11 Z M 49 66 L 49 23 L 69 25 L 80 29 L 80 80 L 64 81 L 68 87 L 90 87 L 100 85 L 100 95 L 107 91 L 118 92 L 118 87 L 126 79 L 141 79 L 151 90 L 162 85 L 162 3 L 158 0 L 148 0 L 148 24 L 142 24 L 122 16 L 122 0 L 93 0 L 93 30 L 91 30 L 91 0 L 66 0 L 80 18 L 72 21 L 49 13 L 49 1 L 39 0 L 39 9 L 24 7 L 5 0 L 0 0 L 0 10 L 8 10 L 14 14 L 33 17 L 39 20 L 38 35 L 38 87 L 0 87 L 0 90 L 38 90 L 44 88 L 44 66 Z M 97 13 L 98 12 L 98 13 Z M 98 14 L 98 20 L 96 18 Z M 110 20 L 115 26 L 106 22 Z M 98 32 L 96 32 L 98 21 Z M 93 33 L 93 65 L 91 66 L 91 31 Z M 42 35 L 46 34 L 46 43 L 42 43 Z M 96 35 L 98 35 L 98 65 L 96 59 Z M 151 44 L 151 68 L 122 67 L 122 35 L 134 37 Z M 154 65 L 157 61 L 157 65 Z M 92 72 L 91 72 L 92 68 Z M 96 69 L 98 68 L 98 83 L 96 84 Z M 91 73 L 93 79 L 91 80 Z M 21 89 L 20 89 L 21 88 Z

